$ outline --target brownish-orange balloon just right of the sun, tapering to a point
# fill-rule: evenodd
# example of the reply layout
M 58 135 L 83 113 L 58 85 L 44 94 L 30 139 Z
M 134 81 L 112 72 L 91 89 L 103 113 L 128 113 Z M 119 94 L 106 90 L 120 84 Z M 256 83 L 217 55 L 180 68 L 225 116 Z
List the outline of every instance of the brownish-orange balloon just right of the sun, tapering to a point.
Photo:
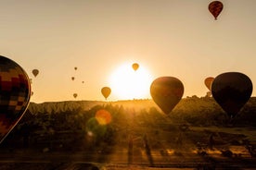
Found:
M 150 86 L 150 94 L 155 103 L 167 115 L 180 102 L 184 93 L 183 83 L 173 77 L 160 77 Z

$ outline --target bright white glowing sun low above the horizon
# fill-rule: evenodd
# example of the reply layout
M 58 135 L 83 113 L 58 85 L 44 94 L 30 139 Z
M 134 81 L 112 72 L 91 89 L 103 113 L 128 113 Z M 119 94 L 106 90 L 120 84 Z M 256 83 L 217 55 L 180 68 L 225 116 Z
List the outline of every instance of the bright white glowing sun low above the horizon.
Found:
M 149 87 L 152 76 L 147 68 L 140 65 L 134 70 L 132 64 L 123 64 L 110 76 L 112 95 L 119 100 L 146 99 L 150 97 Z

